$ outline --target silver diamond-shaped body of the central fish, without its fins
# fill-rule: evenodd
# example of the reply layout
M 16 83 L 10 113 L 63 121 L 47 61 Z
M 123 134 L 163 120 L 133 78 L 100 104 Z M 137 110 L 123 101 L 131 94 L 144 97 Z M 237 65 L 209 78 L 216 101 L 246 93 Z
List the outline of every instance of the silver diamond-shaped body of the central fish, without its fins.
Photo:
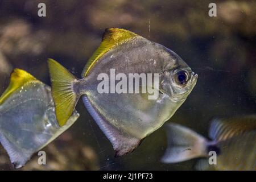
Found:
M 188 93 L 184 98 L 179 98 L 180 93 L 176 96 L 166 90 L 164 93 L 159 93 L 157 100 L 148 100 L 142 94 L 135 93 L 98 93 L 97 85 L 100 82 L 97 80 L 98 73 L 106 73 L 110 77 L 110 69 L 113 68 L 115 74 L 124 73 L 127 77 L 129 73 L 158 73 L 162 90 L 165 84 L 171 85 L 170 78 L 176 69 L 186 69 L 191 77 L 193 73 L 170 49 L 142 37 L 132 41 L 133 43 L 122 44 L 102 56 L 85 78 L 86 84 L 80 89 L 82 89 L 81 93 L 85 94 L 84 100 L 96 106 L 98 113 L 111 125 L 135 138 L 142 139 L 170 119 L 183 104 Z M 193 77 L 191 82 L 192 89 L 196 77 Z

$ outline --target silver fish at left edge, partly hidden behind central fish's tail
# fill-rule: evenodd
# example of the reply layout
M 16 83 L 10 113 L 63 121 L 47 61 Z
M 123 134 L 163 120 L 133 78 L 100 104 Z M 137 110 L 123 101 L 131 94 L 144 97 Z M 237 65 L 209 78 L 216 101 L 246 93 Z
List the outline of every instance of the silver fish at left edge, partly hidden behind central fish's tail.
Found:
M 14 69 L 10 84 L 0 97 L 0 142 L 11 163 L 20 168 L 79 118 L 73 111 L 67 123 L 56 120 L 51 88 L 35 77 Z

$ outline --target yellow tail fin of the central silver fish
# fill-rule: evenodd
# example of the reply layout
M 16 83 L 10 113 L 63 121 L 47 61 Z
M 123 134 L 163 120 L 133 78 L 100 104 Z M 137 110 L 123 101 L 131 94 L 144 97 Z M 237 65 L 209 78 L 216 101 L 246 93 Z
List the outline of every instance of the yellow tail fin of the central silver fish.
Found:
M 49 73 L 52 82 L 52 97 L 55 103 L 56 118 L 60 126 L 65 125 L 79 100 L 80 95 L 73 90 L 73 83 L 77 80 L 61 64 L 48 59 Z

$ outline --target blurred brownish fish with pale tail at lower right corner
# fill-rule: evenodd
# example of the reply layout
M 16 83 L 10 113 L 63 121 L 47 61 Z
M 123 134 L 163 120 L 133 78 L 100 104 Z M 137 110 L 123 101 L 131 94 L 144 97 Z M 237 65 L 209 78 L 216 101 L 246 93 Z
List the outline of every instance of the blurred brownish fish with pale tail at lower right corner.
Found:
M 215 151 L 217 163 L 200 159 L 197 170 L 256 170 L 256 115 L 213 119 L 208 140 L 187 127 L 168 123 L 168 147 L 164 163 L 179 163 L 194 158 L 209 158 Z

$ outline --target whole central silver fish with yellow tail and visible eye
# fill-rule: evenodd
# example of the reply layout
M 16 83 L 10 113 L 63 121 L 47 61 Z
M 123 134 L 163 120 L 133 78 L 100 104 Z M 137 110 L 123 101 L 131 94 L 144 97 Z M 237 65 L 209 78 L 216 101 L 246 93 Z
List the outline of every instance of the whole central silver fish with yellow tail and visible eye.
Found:
M 90 57 L 78 79 L 57 61 L 49 59 L 52 96 L 59 125 L 67 122 L 80 97 L 90 115 L 110 140 L 115 156 L 133 151 L 157 130 L 191 93 L 197 75 L 173 51 L 120 28 L 107 28 L 100 47 Z M 99 93 L 100 73 L 158 73 L 156 100 L 147 93 Z

